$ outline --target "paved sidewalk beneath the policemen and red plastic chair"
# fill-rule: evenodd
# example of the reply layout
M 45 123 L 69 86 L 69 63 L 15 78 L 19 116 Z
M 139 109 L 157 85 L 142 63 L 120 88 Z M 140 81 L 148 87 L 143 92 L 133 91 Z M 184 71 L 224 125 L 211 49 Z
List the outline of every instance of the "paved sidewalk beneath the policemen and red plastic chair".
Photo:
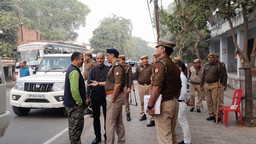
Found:
M 225 95 L 233 97 L 234 91 L 228 89 L 225 91 Z M 135 84 L 135 94 L 138 106 L 130 105 L 131 109 L 131 121 L 126 120 L 125 106 L 123 105 L 123 121 L 125 126 L 126 144 L 157 144 L 157 133 L 155 126 L 147 127 L 150 122 L 150 116 L 147 115 L 147 120 L 139 121 L 140 118 L 140 103 L 138 95 L 138 84 Z M 225 96 L 224 105 L 230 106 L 232 99 Z M 197 99 L 197 98 L 196 98 Z M 196 100 L 197 101 L 197 100 Z M 132 104 L 135 104 L 135 98 L 132 94 Z M 220 122 L 218 124 L 213 121 L 207 121 L 208 117 L 207 104 L 203 101 L 204 109 L 201 109 L 201 113 L 196 111 L 190 112 L 188 107 L 187 117 L 192 135 L 193 144 L 243 144 L 243 143 L 255 143 L 255 130 L 254 128 L 243 127 L 240 124 L 236 124 L 235 113 L 229 113 L 229 128 L 225 128 L 224 124 Z M 103 114 L 101 114 L 101 132 L 102 141 L 99 144 L 104 144 L 104 120 Z M 224 119 L 224 116 L 223 116 Z M 223 121 L 224 123 L 224 121 Z M 82 143 L 91 144 L 95 139 L 93 123 L 88 124 L 89 128 L 83 129 Z M 183 140 L 183 132 L 180 124 L 177 120 L 176 134 L 178 141 Z M 117 135 L 115 144 L 117 144 Z M 254 142 L 253 142 L 254 141 Z

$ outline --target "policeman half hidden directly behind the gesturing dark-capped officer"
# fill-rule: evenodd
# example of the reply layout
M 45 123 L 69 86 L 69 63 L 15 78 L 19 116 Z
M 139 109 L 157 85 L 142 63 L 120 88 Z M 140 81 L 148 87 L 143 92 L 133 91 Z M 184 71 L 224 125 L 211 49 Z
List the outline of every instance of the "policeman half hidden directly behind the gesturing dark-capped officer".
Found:
M 125 114 L 127 116 L 127 121 L 131 121 L 130 117 L 130 106 L 129 106 L 129 93 L 131 93 L 132 87 L 132 67 L 128 64 L 125 64 L 125 55 L 121 55 L 118 57 L 118 60 L 124 66 L 125 69 L 125 87 L 124 87 L 124 94 L 125 94 Z

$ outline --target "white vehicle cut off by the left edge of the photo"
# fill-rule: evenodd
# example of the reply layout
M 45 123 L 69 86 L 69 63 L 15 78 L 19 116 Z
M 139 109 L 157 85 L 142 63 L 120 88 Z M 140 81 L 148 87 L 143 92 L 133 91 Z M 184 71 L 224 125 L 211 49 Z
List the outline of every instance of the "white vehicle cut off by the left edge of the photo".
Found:
M 6 111 L 6 85 L 4 69 L 0 57 L 0 137 L 4 136 L 7 126 L 10 125 L 10 119 L 10 111 Z

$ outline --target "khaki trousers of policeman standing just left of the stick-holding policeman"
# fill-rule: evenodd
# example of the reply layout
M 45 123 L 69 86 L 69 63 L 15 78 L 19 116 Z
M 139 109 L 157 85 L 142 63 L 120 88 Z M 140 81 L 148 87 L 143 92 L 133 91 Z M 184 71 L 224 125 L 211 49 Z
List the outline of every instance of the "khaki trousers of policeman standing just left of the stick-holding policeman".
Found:
M 202 107 L 202 91 L 200 90 L 200 85 L 194 85 L 194 84 L 190 84 L 189 85 L 189 93 L 191 96 L 191 107 L 195 108 L 195 96 L 196 96 L 196 92 L 197 92 L 197 104 L 196 104 L 196 109 L 200 109 Z

